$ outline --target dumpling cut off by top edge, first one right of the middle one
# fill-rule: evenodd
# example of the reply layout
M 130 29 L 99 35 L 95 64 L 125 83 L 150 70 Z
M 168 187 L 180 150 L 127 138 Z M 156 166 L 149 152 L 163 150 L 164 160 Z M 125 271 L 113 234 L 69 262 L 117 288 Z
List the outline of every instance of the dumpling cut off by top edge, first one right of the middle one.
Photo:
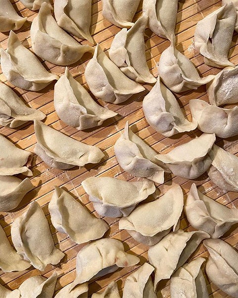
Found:
M 175 41 L 175 25 L 179 0 L 145 0 L 143 14 L 148 15 L 148 27 L 163 38 Z

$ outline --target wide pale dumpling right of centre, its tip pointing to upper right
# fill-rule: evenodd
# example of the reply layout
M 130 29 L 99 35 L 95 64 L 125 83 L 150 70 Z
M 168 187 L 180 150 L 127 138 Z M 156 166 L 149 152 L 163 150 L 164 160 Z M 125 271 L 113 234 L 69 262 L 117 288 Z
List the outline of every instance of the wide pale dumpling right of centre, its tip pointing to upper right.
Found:
M 169 153 L 156 155 L 156 158 L 174 175 L 195 179 L 211 165 L 212 159 L 209 152 L 215 141 L 215 134 L 202 134 L 200 137 L 172 149 Z

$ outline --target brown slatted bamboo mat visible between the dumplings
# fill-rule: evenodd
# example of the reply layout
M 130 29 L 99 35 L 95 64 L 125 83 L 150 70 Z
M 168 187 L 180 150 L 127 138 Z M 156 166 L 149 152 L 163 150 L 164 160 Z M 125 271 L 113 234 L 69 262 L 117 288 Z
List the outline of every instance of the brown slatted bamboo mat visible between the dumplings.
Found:
M 20 1 L 11 0 L 14 8 L 19 11 L 22 16 L 27 16 L 28 21 L 23 25 L 23 27 L 16 31 L 20 41 L 24 46 L 31 49 L 30 40 L 30 25 L 31 21 L 36 16 L 36 13 L 25 8 Z M 138 12 L 135 16 L 135 20 L 141 15 L 140 5 Z M 219 70 L 206 66 L 203 63 L 203 58 L 201 55 L 194 50 L 193 46 L 193 34 L 195 30 L 195 25 L 198 20 L 202 19 L 204 16 L 208 15 L 215 9 L 221 6 L 220 0 L 181 0 L 179 2 L 178 18 L 176 25 L 176 45 L 179 51 L 185 54 L 193 64 L 196 66 L 198 72 L 202 76 L 208 74 L 217 74 Z M 101 0 L 93 0 L 92 7 L 92 28 L 91 32 L 95 38 L 95 41 L 100 44 L 102 49 L 107 51 L 110 48 L 113 36 L 119 32 L 119 28 L 111 25 L 107 20 L 103 19 L 102 13 L 102 2 Z M 2 48 L 7 46 L 7 34 L 0 33 L 0 45 Z M 230 50 L 229 57 L 230 60 L 238 65 L 238 35 L 234 33 L 233 42 Z M 82 41 L 82 44 L 87 44 L 86 41 Z M 146 59 L 151 72 L 157 77 L 156 65 L 159 61 L 160 55 L 163 50 L 169 46 L 169 42 L 151 33 L 150 30 L 145 31 L 145 45 L 146 45 Z M 90 55 L 85 55 L 81 61 L 77 64 L 70 66 L 70 73 L 77 78 L 77 80 L 88 88 L 85 77 L 84 70 L 87 65 Z M 63 74 L 64 67 L 55 66 L 48 62 L 42 62 L 43 65 L 54 74 Z M 48 202 L 51 199 L 54 185 L 62 186 L 65 190 L 69 191 L 75 198 L 80 200 L 90 212 L 95 213 L 92 203 L 90 203 L 88 196 L 85 194 L 81 182 L 90 176 L 110 176 L 117 177 L 123 180 L 135 180 L 133 176 L 124 172 L 117 163 L 114 155 L 113 146 L 116 140 L 119 138 L 121 131 L 123 130 L 126 121 L 130 122 L 132 130 L 137 133 L 148 145 L 150 145 L 157 152 L 165 153 L 175 146 L 181 145 L 188 142 L 191 138 L 199 136 L 201 132 L 195 130 L 190 133 L 179 134 L 173 136 L 172 138 L 165 138 L 159 133 L 156 133 L 151 127 L 148 126 L 142 110 L 142 101 L 144 95 L 151 89 L 151 85 L 145 84 L 146 92 L 140 95 L 134 95 L 125 104 L 113 105 L 105 103 L 101 100 L 98 102 L 102 106 L 106 106 L 109 109 L 118 113 L 118 116 L 109 119 L 104 122 L 104 124 L 96 128 L 95 130 L 89 130 L 87 132 L 77 131 L 75 128 L 66 126 L 55 113 L 53 106 L 53 84 L 50 84 L 41 92 L 31 92 L 24 91 L 19 88 L 12 86 L 10 83 L 6 82 L 4 75 L 0 71 L 0 80 L 10 85 L 13 90 L 33 108 L 42 110 L 47 114 L 45 123 L 52 126 L 53 128 L 61 131 L 62 133 L 73 137 L 76 140 L 85 142 L 86 144 L 96 145 L 105 154 L 104 159 L 98 165 L 87 166 L 86 168 L 78 169 L 74 168 L 72 170 L 61 171 L 57 169 L 49 168 L 48 165 L 43 162 L 38 156 L 34 154 L 32 171 L 33 177 L 31 177 L 31 182 L 35 186 L 35 189 L 29 192 L 23 201 L 20 203 L 19 207 L 15 212 L 12 213 L 0 213 L 0 224 L 4 228 L 8 239 L 11 241 L 10 236 L 10 226 L 13 220 L 18 216 L 23 214 L 29 207 L 29 203 L 36 200 L 43 208 L 45 215 L 50 224 L 50 229 L 53 235 L 53 239 L 57 248 L 65 253 L 65 257 L 62 259 L 61 263 L 57 266 L 48 265 L 44 272 L 40 272 L 37 269 L 32 269 L 23 272 L 12 272 L 3 273 L 0 271 L 0 283 L 9 287 L 9 289 L 16 289 L 20 284 L 27 278 L 34 275 L 43 275 L 49 277 L 53 271 L 57 272 L 59 278 L 57 280 L 55 293 L 57 293 L 62 287 L 71 283 L 75 278 L 75 265 L 76 265 L 76 254 L 85 245 L 75 244 L 70 240 L 66 234 L 57 232 L 52 224 L 50 223 L 50 217 L 48 212 Z M 190 120 L 190 110 L 189 110 L 189 100 L 194 98 L 200 98 L 208 101 L 206 96 L 205 86 L 198 88 L 195 91 L 184 92 L 182 94 L 177 94 L 178 102 L 181 108 L 183 108 L 185 114 Z M 34 133 L 34 127 L 32 123 L 28 123 L 21 127 L 21 129 L 14 130 L 6 127 L 0 127 L 0 133 L 6 136 L 14 144 L 22 149 L 29 150 L 34 153 L 34 146 L 36 143 L 36 137 Z M 238 152 L 238 137 L 221 140 L 217 138 L 217 144 L 228 150 L 231 153 L 237 154 Z M 19 175 L 20 176 L 20 175 Z M 23 178 L 23 176 L 22 176 Z M 217 200 L 218 202 L 229 206 L 230 208 L 236 208 L 238 205 L 238 194 L 235 192 L 225 192 L 216 187 L 208 178 L 205 173 L 197 180 L 187 180 L 177 176 L 166 175 L 165 183 L 163 185 L 157 186 L 155 194 L 152 199 L 158 198 L 160 195 L 164 194 L 172 186 L 179 184 L 182 186 L 184 194 L 188 193 L 191 184 L 195 182 L 199 186 L 199 190 L 205 193 L 207 196 Z M 98 216 L 98 215 L 96 215 Z M 109 225 L 110 230 L 106 233 L 107 237 L 113 237 L 123 241 L 126 250 L 130 253 L 140 256 L 142 265 L 147 260 L 147 247 L 143 244 L 137 243 L 129 234 L 125 231 L 119 231 L 118 229 L 118 219 L 104 219 Z M 182 216 L 181 228 L 186 230 L 192 230 L 187 219 Z M 222 239 L 238 248 L 238 225 L 233 227 L 229 233 L 225 234 Z M 207 251 L 204 246 L 199 246 L 196 254 L 207 257 Z M 97 291 L 102 291 L 110 281 L 115 280 L 118 282 L 120 292 L 124 285 L 125 278 L 134 270 L 136 270 L 140 265 L 136 265 L 129 268 L 124 268 L 116 271 L 113 274 L 107 275 L 99 280 L 92 282 L 89 285 L 89 297 Z M 204 268 L 203 268 L 204 271 Z M 210 297 L 213 298 L 224 298 L 229 297 L 224 294 L 221 290 L 217 289 L 213 284 L 211 284 L 206 277 L 207 287 Z M 159 288 L 158 297 L 168 298 L 169 294 L 169 282 L 164 283 L 162 287 Z

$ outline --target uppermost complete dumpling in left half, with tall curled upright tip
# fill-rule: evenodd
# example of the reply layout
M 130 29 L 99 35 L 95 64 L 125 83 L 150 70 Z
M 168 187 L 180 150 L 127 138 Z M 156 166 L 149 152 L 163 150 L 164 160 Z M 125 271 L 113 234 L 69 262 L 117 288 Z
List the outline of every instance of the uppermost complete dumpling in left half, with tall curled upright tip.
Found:
M 73 64 L 86 52 L 94 52 L 92 47 L 79 44 L 57 25 L 46 2 L 32 22 L 31 41 L 37 56 L 56 65 Z

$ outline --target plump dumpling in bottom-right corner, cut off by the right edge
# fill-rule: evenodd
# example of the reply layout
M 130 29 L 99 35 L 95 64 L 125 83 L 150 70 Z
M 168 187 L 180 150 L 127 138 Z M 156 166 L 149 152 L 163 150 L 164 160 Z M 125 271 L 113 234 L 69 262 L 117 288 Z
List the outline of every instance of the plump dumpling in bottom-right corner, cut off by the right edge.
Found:
M 238 252 L 220 239 L 203 241 L 210 256 L 206 263 L 209 280 L 231 297 L 238 298 Z

